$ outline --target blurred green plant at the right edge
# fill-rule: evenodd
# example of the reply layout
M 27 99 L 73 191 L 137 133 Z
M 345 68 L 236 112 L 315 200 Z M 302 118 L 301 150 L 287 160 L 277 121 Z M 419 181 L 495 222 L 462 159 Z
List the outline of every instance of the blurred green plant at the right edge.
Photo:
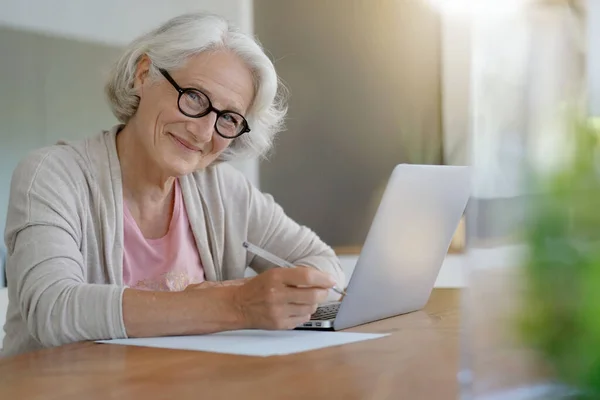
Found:
M 565 165 L 531 174 L 519 314 L 525 344 L 586 400 L 600 398 L 599 126 L 574 123 Z

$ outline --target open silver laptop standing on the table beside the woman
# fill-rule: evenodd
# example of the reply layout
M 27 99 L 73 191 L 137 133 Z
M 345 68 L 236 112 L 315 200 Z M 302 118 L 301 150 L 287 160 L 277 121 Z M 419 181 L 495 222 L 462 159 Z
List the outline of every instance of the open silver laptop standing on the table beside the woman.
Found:
M 470 195 L 469 167 L 394 168 L 341 302 L 298 329 L 340 330 L 422 309 Z

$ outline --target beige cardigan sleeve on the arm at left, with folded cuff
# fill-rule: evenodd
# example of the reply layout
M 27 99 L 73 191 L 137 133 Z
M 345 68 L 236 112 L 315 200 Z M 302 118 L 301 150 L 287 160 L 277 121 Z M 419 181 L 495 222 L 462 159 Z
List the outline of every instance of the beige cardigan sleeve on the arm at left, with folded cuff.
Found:
M 7 284 L 29 335 L 45 347 L 126 336 L 123 288 L 86 282 L 84 185 L 73 155 L 56 148 L 30 154 L 12 177 Z

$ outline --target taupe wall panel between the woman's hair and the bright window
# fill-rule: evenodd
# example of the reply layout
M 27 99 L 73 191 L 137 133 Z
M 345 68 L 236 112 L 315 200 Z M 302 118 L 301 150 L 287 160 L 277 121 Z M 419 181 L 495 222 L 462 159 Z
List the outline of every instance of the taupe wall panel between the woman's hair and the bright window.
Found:
M 331 245 L 361 245 L 393 167 L 444 161 L 439 13 L 418 0 L 254 0 L 254 18 L 291 92 L 261 188 Z

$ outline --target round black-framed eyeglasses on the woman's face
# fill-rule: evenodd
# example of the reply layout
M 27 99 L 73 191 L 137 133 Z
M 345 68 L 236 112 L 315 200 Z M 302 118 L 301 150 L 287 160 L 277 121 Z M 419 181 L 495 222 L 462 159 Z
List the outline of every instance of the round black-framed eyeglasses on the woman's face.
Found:
M 217 114 L 215 130 L 226 139 L 235 139 L 246 132 L 250 132 L 248 121 L 243 115 L 235 111 L 217 110 L 206 94 L 195 88 L 182 88 L 166 70 L 161 68 L 159 71 L 179 92 L 177 106 L 183 115 L 190 118 L 202 118 L 214 111 Z

